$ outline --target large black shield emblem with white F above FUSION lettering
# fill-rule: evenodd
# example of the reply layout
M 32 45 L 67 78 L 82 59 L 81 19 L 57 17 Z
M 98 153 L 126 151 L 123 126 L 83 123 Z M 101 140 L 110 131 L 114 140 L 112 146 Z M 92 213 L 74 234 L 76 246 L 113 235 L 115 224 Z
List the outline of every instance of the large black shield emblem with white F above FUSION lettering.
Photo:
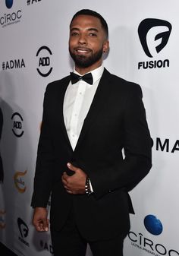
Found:
M 152 52 L 159 53 L 168 43 L 171 24 L 168 21 L 147 18 L 140 23 L 138 33 L 144 52 L 149 58 L 152 58 Z

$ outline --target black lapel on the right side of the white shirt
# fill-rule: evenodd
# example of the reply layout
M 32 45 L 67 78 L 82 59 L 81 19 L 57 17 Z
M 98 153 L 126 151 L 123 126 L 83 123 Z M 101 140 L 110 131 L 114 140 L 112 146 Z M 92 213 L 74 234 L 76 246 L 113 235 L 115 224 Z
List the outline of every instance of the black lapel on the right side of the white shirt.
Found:
M 92 125 L 93 122 L 98 119 L 98 115 L 104 111 L 104 105 L 107 106 L 108 104 L 108 97 L 110 94 L 110 81 L 108 80 L 110 75 L 111 74 L 105 69 L 93 98 L 93 102 L 89 108 L 89 112 L 86 115 L 86 119 L 84 119 L 75 151 L 80 147 L 81 141 L 83 141 L 84 135 L 86 134 L 86 131 L 88 131 L 90 125 Z

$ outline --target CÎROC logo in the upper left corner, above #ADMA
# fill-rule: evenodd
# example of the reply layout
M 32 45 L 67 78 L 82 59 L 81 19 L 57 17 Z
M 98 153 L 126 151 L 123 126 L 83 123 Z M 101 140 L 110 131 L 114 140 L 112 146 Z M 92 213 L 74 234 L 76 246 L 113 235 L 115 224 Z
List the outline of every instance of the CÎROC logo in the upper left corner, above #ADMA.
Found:
M 13 5 L 13 0 L 5 0 L 5 5 L 8 9 L 11 9 Z M 4 14 L 2 17 L 0 17 L 0 24 L 2 25 L 2 27 L 17 24 L 18 22 L 20 22 L 21 17 L 21 10 L 13 11 L 11 13 Z

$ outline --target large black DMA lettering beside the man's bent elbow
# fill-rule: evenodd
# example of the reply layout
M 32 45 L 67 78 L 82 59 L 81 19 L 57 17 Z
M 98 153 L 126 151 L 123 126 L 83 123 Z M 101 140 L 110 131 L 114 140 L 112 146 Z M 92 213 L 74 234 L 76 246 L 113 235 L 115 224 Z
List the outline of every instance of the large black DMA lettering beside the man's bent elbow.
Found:
M 156 140 L 153 141 L 153 145 L 157 151 L 166 153 L 179 152 L 179 140 L 171 142 L 168 138 L 161 139 L 160 137 L 156 137 Z

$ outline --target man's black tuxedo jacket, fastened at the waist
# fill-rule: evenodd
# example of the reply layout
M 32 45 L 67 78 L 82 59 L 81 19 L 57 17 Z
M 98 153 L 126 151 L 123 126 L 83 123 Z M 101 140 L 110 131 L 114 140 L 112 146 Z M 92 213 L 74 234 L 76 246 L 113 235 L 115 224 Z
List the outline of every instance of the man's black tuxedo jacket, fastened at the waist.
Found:
M 127 194 L 151 168 L 151 139 L 140 86 L 102 74 L 73 151 L 64 126 L 63 101 L 70 77 L 48 85 L 44 98 L 33 207 L 51 198 L 51 226 L 61 229 L 73 205 L 77 226 L 89 240 L 126 234 L 133 212 Z M 122 156 L 124 149 L 125 158 Z M 94 193 L 68 194 L 62 172 L 72 162 L 89 175 Z

